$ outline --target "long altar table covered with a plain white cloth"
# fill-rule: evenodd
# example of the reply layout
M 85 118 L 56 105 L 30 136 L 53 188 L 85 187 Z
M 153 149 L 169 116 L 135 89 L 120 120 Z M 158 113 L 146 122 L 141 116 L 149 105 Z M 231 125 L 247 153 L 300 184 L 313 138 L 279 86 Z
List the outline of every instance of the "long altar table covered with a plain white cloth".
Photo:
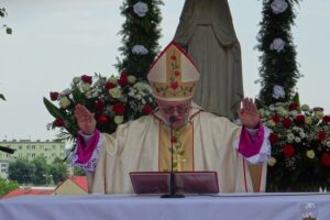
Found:
M 24 196 L 0 200 L 1 219 L 10 220 L 299 220 L 315 205 L 318 220 L 330 219 L 330 194 L 221 194 L 162 199 L 158 196 Z

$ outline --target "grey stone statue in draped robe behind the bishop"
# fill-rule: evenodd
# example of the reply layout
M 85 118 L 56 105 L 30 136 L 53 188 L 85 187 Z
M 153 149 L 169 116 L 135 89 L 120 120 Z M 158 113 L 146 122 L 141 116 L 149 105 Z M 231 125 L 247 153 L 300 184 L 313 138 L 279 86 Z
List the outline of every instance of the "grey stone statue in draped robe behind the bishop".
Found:
M 241 47 L 227 0 L 186 0 L 174 42 L 201 74 L 194 100 L 233 120 L 243 99 Z

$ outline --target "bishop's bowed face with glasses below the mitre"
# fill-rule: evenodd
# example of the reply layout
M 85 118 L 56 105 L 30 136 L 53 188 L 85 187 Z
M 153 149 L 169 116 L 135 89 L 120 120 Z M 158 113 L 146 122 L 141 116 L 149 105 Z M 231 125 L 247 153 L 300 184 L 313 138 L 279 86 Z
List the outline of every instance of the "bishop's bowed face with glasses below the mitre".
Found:
M 156 99 L 156 102 L 166 123 L 170 124 L 170 121 L 175 119 L 174 122 L 172 121 L 174 129 L 183 127 L 188 121 L 191 99 L 184 101 L 165 101 Z

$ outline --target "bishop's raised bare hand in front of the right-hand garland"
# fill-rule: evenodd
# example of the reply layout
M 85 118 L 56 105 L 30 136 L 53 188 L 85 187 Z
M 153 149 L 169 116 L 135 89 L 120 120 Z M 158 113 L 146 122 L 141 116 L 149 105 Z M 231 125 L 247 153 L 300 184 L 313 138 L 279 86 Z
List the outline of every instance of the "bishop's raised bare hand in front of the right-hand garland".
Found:
M 242 100 L 242 108 L 239 109 L 239 118 L 248 129 L 257 129 L 260 123 L 260 112 L 251 98 Z

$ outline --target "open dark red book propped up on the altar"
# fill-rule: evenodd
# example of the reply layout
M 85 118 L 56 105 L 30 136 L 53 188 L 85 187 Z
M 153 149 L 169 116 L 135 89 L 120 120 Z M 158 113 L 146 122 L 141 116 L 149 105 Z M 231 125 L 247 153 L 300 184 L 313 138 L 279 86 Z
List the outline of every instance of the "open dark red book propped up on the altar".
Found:
M 219 194 L 217 172 L 175 172 L 178 194 Z M 170 172 L 131 172 L 135 194 L 169 194 Z

